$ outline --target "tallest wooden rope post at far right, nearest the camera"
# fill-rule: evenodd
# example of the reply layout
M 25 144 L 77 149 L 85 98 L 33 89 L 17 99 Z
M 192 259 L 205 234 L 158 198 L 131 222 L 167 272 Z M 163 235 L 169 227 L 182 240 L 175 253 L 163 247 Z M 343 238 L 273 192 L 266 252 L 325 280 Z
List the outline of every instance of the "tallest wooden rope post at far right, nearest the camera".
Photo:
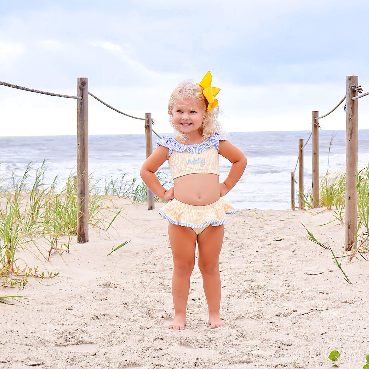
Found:
M 358 228 L 358 99 L 352 85 L 358 86 L 358 76 L 346 77 L 346 202 L 345 202 L 345 250 L 356 249 Z

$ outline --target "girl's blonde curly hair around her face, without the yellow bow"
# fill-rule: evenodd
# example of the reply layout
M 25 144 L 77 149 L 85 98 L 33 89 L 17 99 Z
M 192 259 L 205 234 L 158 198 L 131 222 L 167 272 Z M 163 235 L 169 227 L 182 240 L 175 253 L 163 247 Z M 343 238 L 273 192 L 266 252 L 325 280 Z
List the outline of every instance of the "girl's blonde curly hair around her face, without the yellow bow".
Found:
M 170 99 L 168 101 L 168 112 L 169 112 L 169 122 L 172 125 L 174 132 L 176 135 L 179 136 L 181 141 L 188 141 L 188 136 L 176 130 L 173 125 L 173 116 L 170 114 L 173 110 L 173 104 L 177 100 L 183 100 L 186 98 L 194 99 L 197 101 L 201 101 L 204 106 L 203 114 L 204 120 L 203 124 L 201 125 L 199 131 L 200 134 L 203 136 L 203 141 L 207 138 L 211 137 L 214 132 L 218 132 L 222 136 L 224 136 L 224 131 L 221 127 L 221 124 L 218 122 L 218 114 L 219 114 L 219 106 L 215 107 L 214 109 L 207 111 L 208 101 L 205 99 L 203 95 L 203 87 L 197 85 L 192 80 L 184 80 L 181 82 L 172 92 L 170 95 Z

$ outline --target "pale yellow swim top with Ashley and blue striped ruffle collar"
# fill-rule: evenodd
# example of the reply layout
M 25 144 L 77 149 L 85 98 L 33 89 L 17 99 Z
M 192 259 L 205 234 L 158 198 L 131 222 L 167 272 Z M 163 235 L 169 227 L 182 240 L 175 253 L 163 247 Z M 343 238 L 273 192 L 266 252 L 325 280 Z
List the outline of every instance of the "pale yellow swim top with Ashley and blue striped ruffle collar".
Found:
M 173 179 L 193 173 L 213 173 L 219 175 L 219 140 L 224 140 L 218 132 L 200 144 L 184 145 L 174 138 L 163 136 L 156 140 L 158 146 L 169 149 L 169 169 Z

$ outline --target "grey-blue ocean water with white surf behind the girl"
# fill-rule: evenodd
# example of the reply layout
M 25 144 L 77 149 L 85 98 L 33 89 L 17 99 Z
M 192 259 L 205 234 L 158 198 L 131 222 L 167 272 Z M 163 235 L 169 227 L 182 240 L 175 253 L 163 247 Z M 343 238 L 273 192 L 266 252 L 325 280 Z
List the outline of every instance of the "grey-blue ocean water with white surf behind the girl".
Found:
M 299 139 L 306 143 L 308 131 L 231 132 L 229 141 L 248 159 L 244 175 L 224 199 L 237 208 L 290 208 L 290 172 L 296 166 Z M 155 140 L 157 137 L 153 137 Z M 330 141 L 332 145 L 330 148 Z M 11 173 L 21 175 L 29 162 L 46 159 L 47 180 L 59 176 L 61 182 L 76 172 L 76 136 L 3 137 L 0 138 L 0 180 L 10 181 Z M 345 170 L 345 131 L 320 131 L 319 172 Z M 154 144 L 153 147 L 156 147 Z M 328 150 L 330 155 L 328 156 Z M 358 168 L 368 166 L 369 130 L 359 130 Z M 139 177 L 146 158 L 145 135 L 91 135 L 89 137 L 89 172 L 94 179 L 113 179 L 128 173 Z M 220 157 L 220 180 L 231 163 Z M 162 169 L 168 173 L 168 164 Z M 298 169 L 296 177 L 298 177 Z M 311 139 L 304 148 L 304 187 L 311 188 Z M 295 185 L 295 189 L 298 185 Z

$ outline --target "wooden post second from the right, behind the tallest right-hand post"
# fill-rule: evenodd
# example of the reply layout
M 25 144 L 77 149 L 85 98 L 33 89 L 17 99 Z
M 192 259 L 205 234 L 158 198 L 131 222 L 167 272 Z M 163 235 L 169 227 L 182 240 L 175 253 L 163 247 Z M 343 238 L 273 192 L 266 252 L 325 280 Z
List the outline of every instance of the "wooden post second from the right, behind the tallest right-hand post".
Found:
M 319 117 L 318 111 L 311 112 L 311 155 L 312 155 L 312 168 L 313 168 L 313 183 L 312 183 L 312 193 L 313 201 L 312 207 L 316 208 L 319 206 Z

